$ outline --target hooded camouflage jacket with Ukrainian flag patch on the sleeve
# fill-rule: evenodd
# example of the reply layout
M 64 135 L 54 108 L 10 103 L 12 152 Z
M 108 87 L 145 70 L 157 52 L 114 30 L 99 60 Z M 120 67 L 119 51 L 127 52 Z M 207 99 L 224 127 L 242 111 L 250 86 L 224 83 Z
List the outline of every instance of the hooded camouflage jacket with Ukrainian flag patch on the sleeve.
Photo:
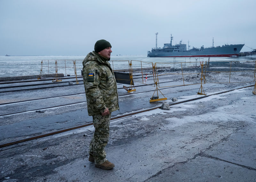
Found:
M 107 58 L 92 51 L 83 66 L 88 115 L 99 115 L 107 107 L 109 112 L 119 109 L 116 79 Z

